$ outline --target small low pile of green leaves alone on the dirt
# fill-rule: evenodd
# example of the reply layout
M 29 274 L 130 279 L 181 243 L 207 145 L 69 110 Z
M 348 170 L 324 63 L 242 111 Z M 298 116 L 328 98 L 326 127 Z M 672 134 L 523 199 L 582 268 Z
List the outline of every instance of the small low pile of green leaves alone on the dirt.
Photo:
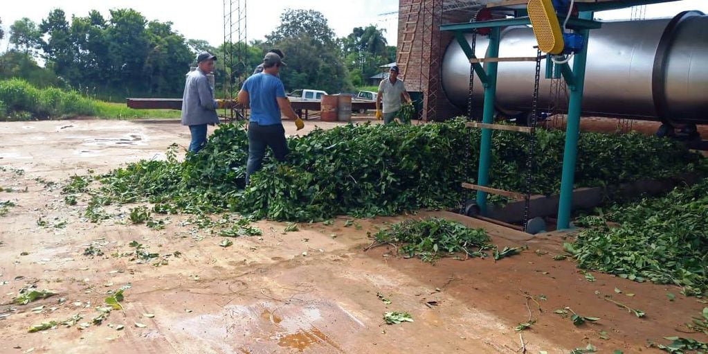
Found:
M 459 222 L 438 217 L 398 222 L 374 237 L 380 243 L 401 244 L 400 253 L 424 262 L 459 253 L 467 257 L 486 256 L 483 251 L 491 249 L 484 229 L 469 229 Z

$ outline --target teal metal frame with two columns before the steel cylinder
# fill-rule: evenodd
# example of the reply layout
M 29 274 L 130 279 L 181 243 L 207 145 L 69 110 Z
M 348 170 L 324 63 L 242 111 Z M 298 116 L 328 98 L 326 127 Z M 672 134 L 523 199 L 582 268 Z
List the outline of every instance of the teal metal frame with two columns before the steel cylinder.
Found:
M 633 1 L 646 2 L 651 1 Z M 664 2 L 664 1 L 653 1 Z M 581 52 L 575 53 L 573 58 L 573 69 L 569 64 L 549 64 L 548 67 L 553 67 L 553 72 L 560 72 L 571 90 L 569 98 L 569 108 L 567 115 L 566 126 L 566 142 L 563 154 L 563 175 L 561 176 L 560 202 L 558 207 L 558 226 L 557 229 L 569 229 L 570 215 L 573 202 L 573 181 L 575 179 L 575 165 L 578 154 L 578 137 L 580 132 L 580 117 L 581 108 L 583 106 L 583 87 L 585 86 L 585 69 L 588 59 L 588 38 L 590 30 L 600 28 L 602 23 L 593 21 L 593 12 L 582 12 L 578 16 L 569 21 L 569 28 L 576 30 L 576 33 L 583 36 L 585 45 Z M 475 23 L 455 23 L 451 25 L 441 25 L 441 31 L 450 31 L 455 34 L 457 42 L 462 47 L 462 50 L 468 59 L 476 59 L 476 55 L 469 47 L 467 39 L 464 38 L 464 33 L 470 33 L 475 28 L 490 28 L 489 46 L 487 47 L 486 55 L 488 57 L 498 57 L 499 42 L 501 40 L 501 28 L 510 25 L 528 25 L 529 18 L 506 18 L 501 20 L 481 21 Z M 486 63 L 486 69 L 479 63 L 473 63 L 472 68 L 479 76 L 480 81 L 484 84 L 484 110 L 482 113 L 482 122 L 492 123 L 494 116 L 494 103 L 496 100 L 496 79 L 498 62 Z M 547 76 L 549 73 L 547 72 Z M 555 76 L 555 74 L 554 74 Z M 481 142 L 479 147 L 479 171 L 477 172 L 477 184 L 486 186 L 489 183 L 489 164 L 491 160 L 491 130 L 482 128 Z M 486 212 L 487 208 L 487 193 L 481 190 L 477 191 L 476 203 L 479 206 L 481 213 Z

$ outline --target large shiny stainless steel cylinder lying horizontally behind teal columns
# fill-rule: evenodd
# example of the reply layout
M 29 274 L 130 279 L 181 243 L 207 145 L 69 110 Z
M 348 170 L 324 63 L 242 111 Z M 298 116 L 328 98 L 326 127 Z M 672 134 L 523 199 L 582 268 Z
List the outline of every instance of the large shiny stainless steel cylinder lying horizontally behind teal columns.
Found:
M 472 42 L 472 35 L 467 36 Z M 478 35 L 475 52 L 486 57 L 487 39 Z M 535 57 L 530 27 L 506 28 L 499 57 Z M 569 63 L 573 64 L 571 62 Z M 539 108 L 551 102 L 551 81 L 541 67 Z M 463 110 L 469 100 L 470 64 L 453 41 L 442 60 L 442 87 Z M 496 108 L 504 113 L 529 111 L 535 62 L 500 62 Z M 484 88 L 474 78 L 472 103 L 481 107 Z M 566 108 L 565 98 L 557 103 Z M 583 114 L 639 120 L 708 124 L 708 16 L 698 11 L 673 19 L 603 23 L 590 31 Z

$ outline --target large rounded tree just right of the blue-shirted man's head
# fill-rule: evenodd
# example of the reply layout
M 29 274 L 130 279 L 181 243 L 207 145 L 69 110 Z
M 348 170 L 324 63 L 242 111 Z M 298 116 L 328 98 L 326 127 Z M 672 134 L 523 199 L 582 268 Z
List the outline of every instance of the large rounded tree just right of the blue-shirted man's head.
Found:
M 321 89 L 329 93 L 352 88 L 343 53 L 327 19 L 313 10 L 287 9 L 280 25 L 266 35 L 268 47 L 285 53 L 280 78 L 286 89 Z

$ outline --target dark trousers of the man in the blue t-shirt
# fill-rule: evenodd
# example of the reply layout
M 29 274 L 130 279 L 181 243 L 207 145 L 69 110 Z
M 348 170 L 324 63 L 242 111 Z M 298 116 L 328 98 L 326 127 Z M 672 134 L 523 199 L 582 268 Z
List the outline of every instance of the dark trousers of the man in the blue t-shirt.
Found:
M 285 128 L 282 124 L 258 125 L 249 123 L 249 162 L 246 164 L 246 185 L 249 177 L 261 169 L 265 147 L 273 149 L 273 156 L 278 161 L 285 161 L 287 143 L 285 142 Z

